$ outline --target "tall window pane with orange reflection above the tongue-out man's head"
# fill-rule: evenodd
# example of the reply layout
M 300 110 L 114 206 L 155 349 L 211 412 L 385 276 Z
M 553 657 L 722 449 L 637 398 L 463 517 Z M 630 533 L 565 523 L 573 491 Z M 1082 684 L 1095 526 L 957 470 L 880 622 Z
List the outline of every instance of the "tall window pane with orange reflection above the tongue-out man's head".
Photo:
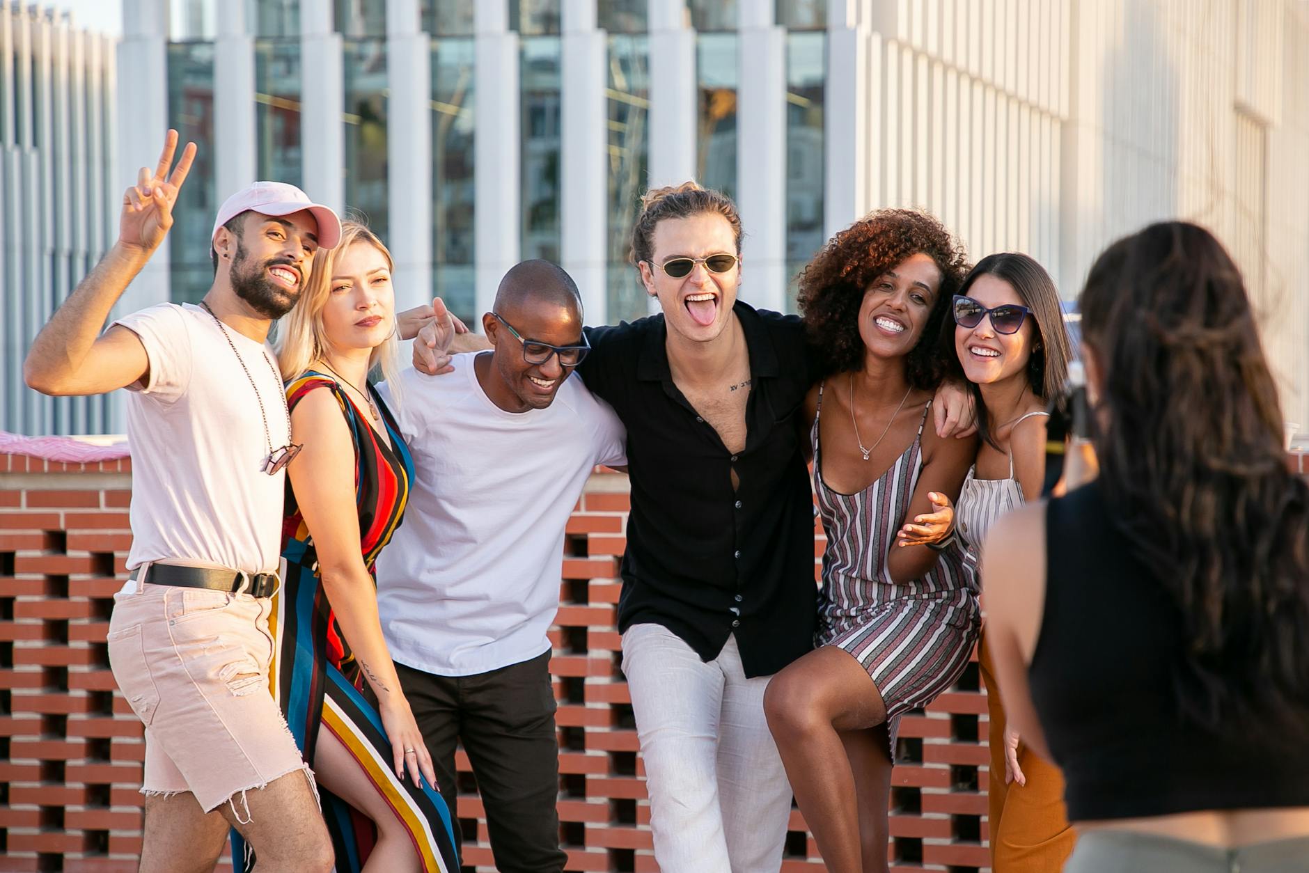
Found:
M 736 196 L 737 35 L 708 33 L 695 38 L 699 123 L 695 178 Z

